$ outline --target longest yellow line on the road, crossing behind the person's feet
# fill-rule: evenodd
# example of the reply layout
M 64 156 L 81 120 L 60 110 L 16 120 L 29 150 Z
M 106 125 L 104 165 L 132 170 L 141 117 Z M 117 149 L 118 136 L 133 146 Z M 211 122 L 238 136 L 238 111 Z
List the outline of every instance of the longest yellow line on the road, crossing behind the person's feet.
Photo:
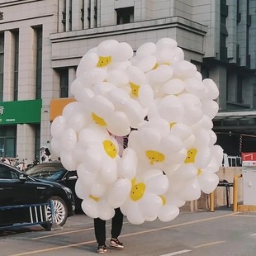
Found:
M 206 218 L 206 219 L 201 219 L 201 220 L 193 220 L 193 221 L 187 221 L 184 223 L 180 223 L 180 224 L 176 224 L 176 225 L 168 225 L 159 229 L 154 229 L 154 230 L 144 230 L 144 231 L 139 231 L 139 232 L 135 232 L 135 233 L 130 233 L 130 234 L 126 234 L 126 235 L 120 235 L 120 237 L 129 237 L 132 235 L 142 235 L 142 234 L 146 234 L 146 233 L 152 233 L 152 232 L 156 232 L 159 230 L 168 230 L 171 229 L 173 227 L 179 227 L 179 226 L 183 226 L 183 225 L 191 225 L 191 224 L 195 224 L 195 223 L 200 223 L 203 221 L 207 221 L 207 220 L 216 220 L 216 219 L 220 219 L 220 218 L 225 218 L 228 216 L 233 216 L 237 214 L 236 212 L 232 212 L 223 216 L 216 216 L 216 217 L 211 217 L 211 218 Z M 67 235 L 69 233 L 71 233 L 72 231 L 69 232 L 64 232 L 64 235 Z M 110 238 L 107 238 L 110 239 Z M 65 249 L 65 248 L 70 248 L 70 247 L 76 247 L 76 246 L 80 246 L 80 245 L 85 245 L 85 244 L 92 244 L 95 243 L 96 240 L 91 240 L 91 241 L 87 241 L 87 242 L 83 242 L 83 243 L 76 243 L 76 244 L 67 244 L 67 245 L 62 245 L 62 246 L 56 246 L 56 247 L 51 247 L 51 248 L 47 248 L 47 249 L 39 249 L 39 250 L 35 250 L 35 251 L 30 251 L 30 252 L 24 252 L 21 254 L 12 254 L 9 256 L 23 256 L 23 255 L 31 255 L 31 254 L 40 254 L 40 253 L 45 253 L 45 252 L 50 252 L 50 251 L 55 251 L 58 249 Z

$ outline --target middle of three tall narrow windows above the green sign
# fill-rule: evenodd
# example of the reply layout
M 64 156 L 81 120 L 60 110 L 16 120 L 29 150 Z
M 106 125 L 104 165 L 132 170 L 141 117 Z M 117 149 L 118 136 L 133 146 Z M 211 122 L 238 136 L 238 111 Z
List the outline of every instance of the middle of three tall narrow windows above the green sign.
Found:
M 13 31 L 14 37 L 14 70 L 13 70 L 13 99 L 18 100 L 19 75 L 19 31 Z

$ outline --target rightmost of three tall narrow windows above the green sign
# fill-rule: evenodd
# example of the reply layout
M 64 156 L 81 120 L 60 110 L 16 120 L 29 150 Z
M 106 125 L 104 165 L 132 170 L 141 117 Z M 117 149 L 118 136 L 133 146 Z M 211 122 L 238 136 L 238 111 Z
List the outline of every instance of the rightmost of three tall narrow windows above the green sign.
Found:
M 42 88 L 42 27 L 36 27 L 36 99 L 41 98 Z

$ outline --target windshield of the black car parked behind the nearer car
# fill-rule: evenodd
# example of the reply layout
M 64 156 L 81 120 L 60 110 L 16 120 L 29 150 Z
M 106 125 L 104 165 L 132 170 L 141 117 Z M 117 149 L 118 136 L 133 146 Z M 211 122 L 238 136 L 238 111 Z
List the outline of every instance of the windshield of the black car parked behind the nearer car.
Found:
M 65 169 L 62 166 L 43 166 L 37 165 L 29 169 L 26 173 L 33 178 L 44 178 L 50 180 L 58 180 L 64 176 Z

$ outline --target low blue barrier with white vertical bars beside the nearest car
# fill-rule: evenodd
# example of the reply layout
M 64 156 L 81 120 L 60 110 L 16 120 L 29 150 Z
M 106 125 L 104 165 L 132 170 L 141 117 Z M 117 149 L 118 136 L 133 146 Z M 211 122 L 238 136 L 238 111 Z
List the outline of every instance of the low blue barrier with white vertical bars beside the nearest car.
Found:
M 18 220 L 17 215 L 23 213 L 24 219 Z M 1 215 L 2 214 L 2 215 Z M 0 219 L 0 230 L 12 229 L 28 225 L 44 225 L 45 230 L 50 231 L 55 221 L 54 203 L 52 200 L 45 203 L 0 206 L 0 216 L 9 216 L 7 223 L 2 223 L 4 217 Z M 13 216 L 13 218 L 10 218 Z

